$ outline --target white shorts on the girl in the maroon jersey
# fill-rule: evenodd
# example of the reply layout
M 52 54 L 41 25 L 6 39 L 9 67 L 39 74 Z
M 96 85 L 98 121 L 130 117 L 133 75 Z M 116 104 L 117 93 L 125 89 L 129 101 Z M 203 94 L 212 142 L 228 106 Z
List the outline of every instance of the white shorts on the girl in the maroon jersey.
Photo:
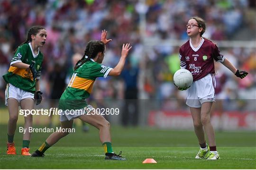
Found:
M 215 102 L 215 77 L 212 74 L 194 81 L 187 91 L 186 104 L 200 108 L 204 102 Z

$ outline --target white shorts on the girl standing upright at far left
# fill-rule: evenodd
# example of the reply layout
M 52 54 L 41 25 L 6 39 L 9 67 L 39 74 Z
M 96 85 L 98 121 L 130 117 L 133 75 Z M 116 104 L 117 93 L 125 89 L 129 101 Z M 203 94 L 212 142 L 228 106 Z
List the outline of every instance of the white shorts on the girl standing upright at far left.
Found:
M 31 98 L 34 100 L 34 94 L 30 92 L 26 92 L 18 87 L 15 87 L 12 84 L 7 84 L 5 89 L 5 105 L 8 106 L 7 99 L 14 98 L 18 101 L 20 105 L 20 101 L 22 99 Z

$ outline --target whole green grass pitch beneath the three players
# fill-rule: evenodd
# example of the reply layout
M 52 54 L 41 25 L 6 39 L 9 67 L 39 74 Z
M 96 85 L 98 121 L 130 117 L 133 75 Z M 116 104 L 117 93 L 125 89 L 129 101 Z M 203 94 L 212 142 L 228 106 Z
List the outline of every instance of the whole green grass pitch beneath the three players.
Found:
M 19 127 L 19 125 L 18 125 Z M 46 151 L 44 158 L 20 155 L 22 134 L 15 135 L 17 155 L 6 155 L 7 126 L 0 125 L 1 169 L 256 169 L 256 133 L 216 132 L 220 159 L 196 160 L 198 144 L 193 131 L 161 130 L 139 127 L 111 127 L 116 153 L 122 151 L 126 161 L 104 160 L 98 130 L 81 127 Z M 49 133 L 33 133 L 31 151 L 36 150 Z M 154 158 L 156 164 L 143 164 Z

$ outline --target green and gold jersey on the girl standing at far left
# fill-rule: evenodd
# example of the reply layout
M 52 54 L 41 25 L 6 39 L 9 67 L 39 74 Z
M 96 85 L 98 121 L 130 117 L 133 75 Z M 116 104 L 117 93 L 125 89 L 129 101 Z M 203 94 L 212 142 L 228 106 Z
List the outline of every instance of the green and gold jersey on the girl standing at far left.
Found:
M 18 47 L 10 65 L 18 62 L 23 62 L 29 65 L 35 63 L 37 79 L 40 79 L 43 54 L 41 51 L 38 51 L 37 55 L 35 55 L 30 42 Z M 8 73 L 3 75 L 3 79 L 6 83 L 10 83 L 24 91 L 35 93 L 36 81 L 33 81 L 33 75 L 30 68 L 17 68 L 10 66 Z

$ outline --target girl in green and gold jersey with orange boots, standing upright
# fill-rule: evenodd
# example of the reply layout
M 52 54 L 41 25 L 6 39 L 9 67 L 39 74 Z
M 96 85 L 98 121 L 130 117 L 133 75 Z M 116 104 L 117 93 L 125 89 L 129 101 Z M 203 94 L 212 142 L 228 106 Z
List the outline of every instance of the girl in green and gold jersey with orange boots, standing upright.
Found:
M 17 127 L 18 106 L 22 110 L 32 110 L 34 100 L 36 100 L 36 104 L 42 100 L 39 79 L 43 54 L 39 47 L 45 45 L 46 36 L 46 29 L 43 26 L 31 27 L 27 33 L 27 40 L 16 49 L 8 73 L 3 76 L 7 83 L 5 104 L 9 110 L 7 154 L 16 154 L 14 133 Z M 31 133 L 28 132 L 28 128 L 32 127 L 33 118 L 31 114 L 24 118 L 24 128 L 27 130 L 23 135 L 21 154 L 31 155 L 29 153 Z

